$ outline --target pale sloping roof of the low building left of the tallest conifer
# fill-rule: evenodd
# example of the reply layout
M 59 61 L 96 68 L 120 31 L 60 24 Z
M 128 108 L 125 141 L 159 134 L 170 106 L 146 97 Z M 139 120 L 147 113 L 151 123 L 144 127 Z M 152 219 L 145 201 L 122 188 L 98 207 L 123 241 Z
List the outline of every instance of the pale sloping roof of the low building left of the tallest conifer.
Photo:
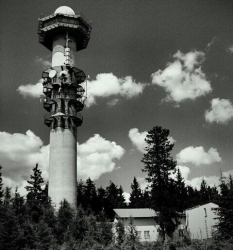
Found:
M 156 216 L 155 211 L 150 208 L 117 208 L 113 210 L 116 216 L 120 218 L 150 218 Z

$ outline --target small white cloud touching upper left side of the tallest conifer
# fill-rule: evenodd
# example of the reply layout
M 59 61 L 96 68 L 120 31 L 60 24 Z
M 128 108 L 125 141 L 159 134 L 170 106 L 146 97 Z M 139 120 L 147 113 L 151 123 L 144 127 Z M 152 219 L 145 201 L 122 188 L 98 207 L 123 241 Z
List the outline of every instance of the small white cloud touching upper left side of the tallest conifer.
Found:
M 137 128 L 131 128 L 129 131 L 129 138 L 133 145 L 136 146 L 137 150 L 141 153 L 145 153 L 145 147 L 147 143 L 145 142 L 147 131 L 139 132 Z

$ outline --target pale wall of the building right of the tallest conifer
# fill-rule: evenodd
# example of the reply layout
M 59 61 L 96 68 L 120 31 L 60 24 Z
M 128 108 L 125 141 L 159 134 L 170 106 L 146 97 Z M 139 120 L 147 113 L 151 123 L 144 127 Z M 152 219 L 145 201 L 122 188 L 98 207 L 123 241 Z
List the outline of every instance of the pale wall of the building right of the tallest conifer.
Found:
M 213 208 L 218 207 L 214 203 L 186 210 L 186 226 L 191 239 L 207 239 L 212 237 L 213 226 L 217 224 Z

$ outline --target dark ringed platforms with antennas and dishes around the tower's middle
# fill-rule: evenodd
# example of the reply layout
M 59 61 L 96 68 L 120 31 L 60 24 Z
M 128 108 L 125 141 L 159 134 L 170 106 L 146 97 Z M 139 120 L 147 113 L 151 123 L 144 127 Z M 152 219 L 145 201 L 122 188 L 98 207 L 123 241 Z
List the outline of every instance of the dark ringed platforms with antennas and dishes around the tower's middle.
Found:
M 42 73 L 44 108 L 50 112 L 45 116 L 49 127 L 70 128 L 82 124 L 78 114 L 86 100 L 85 90 L 81 85 L 86 79 L 85 73 L 75 67 L 56 66 Z

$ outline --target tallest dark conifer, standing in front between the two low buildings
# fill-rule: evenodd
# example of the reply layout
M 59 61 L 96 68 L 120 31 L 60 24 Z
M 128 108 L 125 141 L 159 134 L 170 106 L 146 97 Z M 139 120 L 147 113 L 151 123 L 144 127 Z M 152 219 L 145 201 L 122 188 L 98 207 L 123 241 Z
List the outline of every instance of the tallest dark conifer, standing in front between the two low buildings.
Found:
M 156 220 L 163 241 L 166 235 L 172 237 L 179 223 L 174 181 L 170 177 L 176 167 L 176 161 L 170 155 L 174 144 L 168 140 L 168 136 L 168 129 L 158 126 L 152 128 L 145 139 L 147 147 L 142 159 L 143 171 L 147 173 L 146 180 L 151 187 L 151 208 L 157 213 Z

